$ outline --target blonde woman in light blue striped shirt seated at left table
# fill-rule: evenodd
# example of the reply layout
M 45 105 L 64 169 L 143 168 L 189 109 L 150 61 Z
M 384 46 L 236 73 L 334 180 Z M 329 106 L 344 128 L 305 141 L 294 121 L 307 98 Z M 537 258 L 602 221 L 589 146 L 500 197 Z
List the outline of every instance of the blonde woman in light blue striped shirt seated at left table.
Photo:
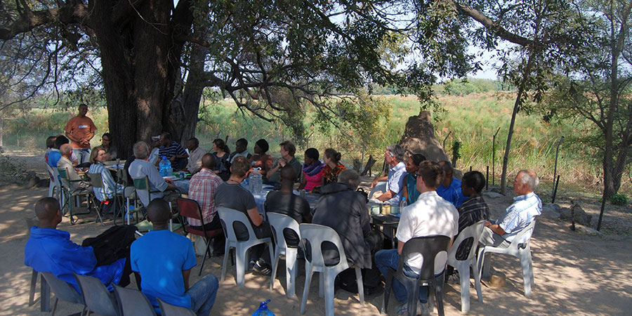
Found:
M 112 177 L 112 173 L 110 170 L 105 168 L 103 162 L 107 162 L 107 154 L 105 153 L 105 149 L 103 147 L 97 146 L 92 149 L 90 153 L 90 169 L 88 169 L 88 173 L 100 173 L 101 178 L 103 178 L 103 189 L 94 188 L 94 196 L 100 202 L 106 202 L 104 206 L 103 213 L 113 213 L 114 212 L 114 192 L 121 193 L 123 192 L 123 185 L 118 184 L 114 181 L 114 177 Z

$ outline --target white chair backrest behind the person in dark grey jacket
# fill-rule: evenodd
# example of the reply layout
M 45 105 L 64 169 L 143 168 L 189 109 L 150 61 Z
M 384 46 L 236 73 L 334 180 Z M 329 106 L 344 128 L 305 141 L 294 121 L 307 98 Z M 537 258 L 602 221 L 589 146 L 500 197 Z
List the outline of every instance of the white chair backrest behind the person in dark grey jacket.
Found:
M 301 232 L 301 244 L 304 243 L 304 240 L 307 240 L 310 243 L 311 248 L 311 261 L 312 265 L 317 267 L 324 267 L 324 259 L 322 258 L 322 243 L 323 242 L 331 242 L 336 246 L 338 250 L 338 254 L 340 256 L 340 262 L 338 265 L 346 265 L 347 256 L 345 255 L 345 249 L 343 248 L 342 242 L 340 241 L 340 236 L 338 236 L 338 232 L 333 228 L 317 225 L 317 224 L 301 224 L 298 225 L 298 229 Z M 303 249 L 307 249 L 305 244 L 303 244 Z M 307 256 L 305 256 L 307 257 Z

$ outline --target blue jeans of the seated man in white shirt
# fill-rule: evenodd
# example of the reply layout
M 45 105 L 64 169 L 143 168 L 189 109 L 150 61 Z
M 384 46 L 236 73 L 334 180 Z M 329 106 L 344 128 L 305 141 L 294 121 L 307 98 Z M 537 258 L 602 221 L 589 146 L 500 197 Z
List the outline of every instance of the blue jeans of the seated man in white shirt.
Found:
M 397 270 L 397 265 L 399 264 L 400 254 L 397 254 L 397 249 L 380 250 L 375 254 L 375 265 L 377 265 L 384 277 L 386 277 L 388 273 L 388 268 Z M 404 275 L 407 277 L 419 276 L 405 264 Z M 406 287 L 395 278 L 393 278 L 393 294 L 395 294 L 395 299 L 400 303 L 406 303 L 408 301 L 408 291 Z M 428 303 L 428 287 L 419 287 L 419 301 L 421 301 L 421 303 Z

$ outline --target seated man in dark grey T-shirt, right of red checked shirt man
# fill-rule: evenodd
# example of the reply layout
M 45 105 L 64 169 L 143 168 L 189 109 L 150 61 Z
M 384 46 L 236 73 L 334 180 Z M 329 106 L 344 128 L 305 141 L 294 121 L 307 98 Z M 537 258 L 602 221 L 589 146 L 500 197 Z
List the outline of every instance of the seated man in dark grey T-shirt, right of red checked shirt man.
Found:
M 263 214 L 257 210 L 252 193 L 242 187 L 242 181 L 248 176 L 249 170 L 250 162 L 246 157 L 235 158 L 230 166 L 230 178 L 217 187 L 213 199 L 218 207 L 226 207 L 245 213 L 257 238 L 272 237 L 270 225 L 263 221 Z M 235 224 L 235 235 L 238 240 L 249 239 L 248 230 L 244 225 Z M 272 269 L 270 268 L 270 258 L 268 258 L 270 254 L 265 250 L 265 245 L 258 244 L 251 249 L 253 269 L 263 275 L 271 275 Z

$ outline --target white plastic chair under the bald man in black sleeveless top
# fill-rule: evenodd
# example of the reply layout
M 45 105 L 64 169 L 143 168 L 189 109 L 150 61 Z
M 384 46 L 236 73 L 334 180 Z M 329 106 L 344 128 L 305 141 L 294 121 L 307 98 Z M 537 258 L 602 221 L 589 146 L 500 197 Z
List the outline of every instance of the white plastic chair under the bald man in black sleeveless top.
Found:
M 298 273 L 298 261 L 296 255 L 298 254 L 298 248 L 288 247 L 285 242 L 283 230 L 286 228 L 294 230 L 298 235 L 298 240 L 301 240 L 301 232 L 298 228 L 298 223 L 294 218 L 291 218 L 284 214 L 268 212 L 268 220 L 270 226 L 272 226 L 272 232 L 275 234 L 275 257 L 272 265 L 272 277 L 270 277 L 270 291 L 275 284 L 275 278 L 277 277 L 277 268 L 279 268 L 279 261 L 281 256 L 285 256 L 285 279 L 287 285 L 287 298 L 296 297 L 295 285 L 296 275 Z

